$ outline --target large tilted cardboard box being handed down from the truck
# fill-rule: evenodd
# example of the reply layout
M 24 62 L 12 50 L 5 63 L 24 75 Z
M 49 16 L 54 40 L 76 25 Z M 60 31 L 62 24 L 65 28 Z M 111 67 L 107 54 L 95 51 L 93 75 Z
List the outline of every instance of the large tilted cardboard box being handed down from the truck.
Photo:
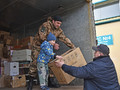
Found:
M 68 50 L 62 56 L 65 64 L 67 65 L 81 67 L 87 64 L 82 55 L 82 52 L 80 51 L 80 48 Z M 59 84 L 69 84 L 72 80 L 75 79 L 75 77 L 68 75 L 61 68 L 57 68 L 54 64 L 54 61 L 49 62 L 48 66 L 53 71 Z

